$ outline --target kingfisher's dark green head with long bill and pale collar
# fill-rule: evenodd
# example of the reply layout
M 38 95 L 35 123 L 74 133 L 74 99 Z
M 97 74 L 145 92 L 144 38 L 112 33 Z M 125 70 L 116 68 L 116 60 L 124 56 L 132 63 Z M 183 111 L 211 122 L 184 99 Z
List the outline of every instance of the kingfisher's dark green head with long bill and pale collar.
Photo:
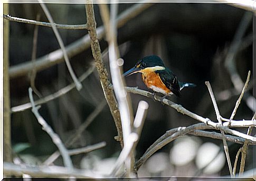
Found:
M 165 65 L 162 61 L 162 59 L 156 55 L 149 55 L 142 59 L 139 59 L 139 61 L 136 63 L 134 67 L 129 69 L 127 72 L 124 73 L 124 76 L 129 76 L 131 74 L 135 73 L 144 73 L 144 72 L 155 72 L 159 70 L 164 70 Z

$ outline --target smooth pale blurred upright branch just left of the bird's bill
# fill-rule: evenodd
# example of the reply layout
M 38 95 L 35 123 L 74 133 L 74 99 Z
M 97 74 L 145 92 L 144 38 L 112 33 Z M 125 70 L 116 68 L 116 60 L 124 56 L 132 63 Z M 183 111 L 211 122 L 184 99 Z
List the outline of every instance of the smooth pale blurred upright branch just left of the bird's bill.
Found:
M 100 13 L 101 13 L 101 19 L 103 21 L 103 24 L 106 29 L 106 36 L 108 41 L 108 50 L 109 50 L 109 64 L 110 64 L 110 74 L 113 84 L 113 90 L 115 92 L 115 95 L 117 97 L 118 107 L 120 110 L 120 117 L 121 117 L 121 124 L 122 124 L 122 134 L 124 137 L 124 145 L 126 143 L 130 143 L 129 136 L 131 134 L 131 125 L 134 121 L 134 117 L 132 114 L 132 107 L 131 107 L 131 100 L 128 94 L 126 93 L 125 89 L 125 81 L 124 78 L 122 78 L 121 68 L 124 61 L 119 58 L 119 49 L 117 46 L 117 24 L 116 24 L 116 16 L 118 13 L 118 4 L 117 2 L 111 2 L 111 12 L 109 15 L 109 9 L 106 4 L 100 4 Z M 119 63 L 121 62 L 121 63 Z M 135 143 L 135 142 L 134 142 Z M 135 147 L 133 145 L 131 146 L 124 146 L 124 148 L 128 149 L 130 147 Z M 122 150 L 122 152 L 126 152 L 125 149 Z M 133 149 L 127 150 L 127 152 L 130 152 L 130 154 L 127 155 L 127 158 L 125 159 L 125 168 L 126 168 L 126 174 L 127 176 L 131 176 L 130 174 L 134 172 L 134 154 Z M 126 155 L 126 154 L 124 154 Z M 118 160 L 117 160 L 118 162 Z M 119 167 L 118 167 L 119 168 Z M 116 174 L 115 171 L 113 171 Z

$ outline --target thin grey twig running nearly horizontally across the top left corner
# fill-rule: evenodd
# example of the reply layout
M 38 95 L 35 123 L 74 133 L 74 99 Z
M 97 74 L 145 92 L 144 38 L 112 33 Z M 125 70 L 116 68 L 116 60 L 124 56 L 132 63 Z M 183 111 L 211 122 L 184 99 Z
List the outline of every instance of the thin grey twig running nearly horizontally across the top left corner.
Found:
M 13 22 L 20 22 L 20 23 L 27 23 L 27 24 L 33 24 L 33 25 L 39 25 L 39 26 L 45 26 L 45 27 L 52 27 L 51 23 L 46 23 L 46 22 L 39 22 L 31 20 L 31 19 L 24 19 L 24 18 L 19 18 L 19 17 L 13 17 L 11 15 L 4 15 L 4 19 L 7 19 L 9 21 Z M 83 25 L 65 25 L 65 24 L 56 24 L 54 23 L 56 28 L 60 29 L 87 29 L 87 24 Z

